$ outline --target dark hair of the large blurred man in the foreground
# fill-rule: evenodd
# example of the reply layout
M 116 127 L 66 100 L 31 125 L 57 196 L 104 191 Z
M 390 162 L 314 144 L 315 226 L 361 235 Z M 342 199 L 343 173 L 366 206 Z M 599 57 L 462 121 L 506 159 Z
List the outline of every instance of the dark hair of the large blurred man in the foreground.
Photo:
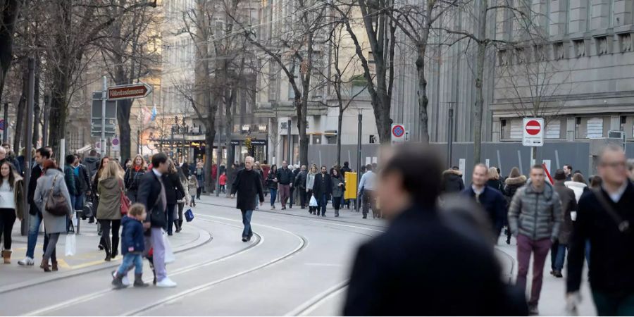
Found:
M 411 168 L 411 162 L 416 162 L 418 168 Z M 403 189 L 414 199 L 414 203 L 425 207 L 435 206 L 442 184 L 442 161 L 430 147 L 416 144 L 397 147 L 381 173 L 399 174 Z

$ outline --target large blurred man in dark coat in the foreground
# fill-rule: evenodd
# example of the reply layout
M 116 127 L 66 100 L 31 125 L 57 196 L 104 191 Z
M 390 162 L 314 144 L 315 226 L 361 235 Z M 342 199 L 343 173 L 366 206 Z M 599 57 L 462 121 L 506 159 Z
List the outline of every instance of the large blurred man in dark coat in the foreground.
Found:
M 523 296 L 511 304 L 489 240 L 466 220 L 439 212 L 440 159 L 414 144 L 394 151 L 376 189 L 390 227 L 359 248 L 343 314 L 526 315 Z

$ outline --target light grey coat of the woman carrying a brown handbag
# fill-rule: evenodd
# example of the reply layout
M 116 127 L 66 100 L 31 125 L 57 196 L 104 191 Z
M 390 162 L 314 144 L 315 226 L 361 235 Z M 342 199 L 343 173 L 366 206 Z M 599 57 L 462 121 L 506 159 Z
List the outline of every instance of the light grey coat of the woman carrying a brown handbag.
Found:
M 55 182 L 54 182 L 55 181 Z M 68 204 L 68 218 L 73 217 L 73 206 L 70 202 L 70 194 L 68 194 L 68 188 L 66 188 L 66 182 L 64 182 L 64 173 L 61 170 L 49 168 L 46 170 L 46 174 L 37 179 L 37 186 L 33 193 L 33 201 L 42 211 L 42 218 L 44 218 L 44 228 L 46 233 L 63 233 L 66 232 L 66 217 L 54 216 L 52 213 L 46 211 L 46 201 L 49 200 L 49 192 L 53 188 L 53 194 L 61 193 L 66 199 Z

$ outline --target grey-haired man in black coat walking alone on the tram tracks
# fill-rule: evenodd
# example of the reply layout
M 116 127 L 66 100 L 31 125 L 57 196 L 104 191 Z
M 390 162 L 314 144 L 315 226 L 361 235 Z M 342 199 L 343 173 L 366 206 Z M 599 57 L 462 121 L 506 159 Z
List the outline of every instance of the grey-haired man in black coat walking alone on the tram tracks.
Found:
M 247 242 L 253 237 L 253 230 L 251 230 L 251 216 L 255 209 L 255 201 L 253 197 L 257 195 L 260 199 L 260 206 L 264 203 L 264 191 L 262 189 L 262 182 L 260 175 L 253 170 L 254 159 L 251 156 L 247 156 L 244 159 L 244 169 L 239 170 L 235 175 L 233 185 L 231 185 L 231 197 L 235 197 L 237 193 L 236 208 L 240 209 L 242 213 L 242 223 L 244 224 L 244 230 L 242 230 L 242 242 Z M 290 172 L 290 170 L 289 170 Z M 278 178 L 279 180 L 279 178 Z

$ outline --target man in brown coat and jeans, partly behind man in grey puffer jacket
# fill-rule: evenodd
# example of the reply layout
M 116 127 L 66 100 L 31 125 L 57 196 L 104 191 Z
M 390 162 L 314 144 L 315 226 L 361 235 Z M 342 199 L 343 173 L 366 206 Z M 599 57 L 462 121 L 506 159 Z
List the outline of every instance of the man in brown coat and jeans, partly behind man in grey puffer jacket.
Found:
M 577 210 L 577 199 L 575 198 L 575 192 L 564 185 L 564 182 L 566 182 L 564 170 L 557 170 L 554 180 L 553 188 L 559 194 L 559 199 L 561 199 L 561 211 L 564 213 L 564 222 L 561 223 L 561 228 L 559 229 L 559 239 L 552 244 L 550 249 L 552 266 L 550 274 L 557 278 L 563 278 L 564 275 L 561 275 L 561 269 L 564 268 L 566 249 L 568 249 L 568 242 L 573 229 L 571 212 Z

